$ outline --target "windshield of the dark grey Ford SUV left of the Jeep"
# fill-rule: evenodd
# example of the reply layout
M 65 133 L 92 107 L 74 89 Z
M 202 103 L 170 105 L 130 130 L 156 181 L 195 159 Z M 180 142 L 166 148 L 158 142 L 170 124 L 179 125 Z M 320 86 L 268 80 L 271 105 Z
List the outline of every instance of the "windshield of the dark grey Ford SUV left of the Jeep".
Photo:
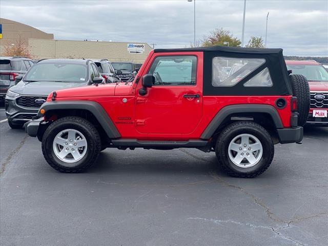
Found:
M 87 66 L 72 63 L 35 64 L 25 75 L 24 81 L 57 81 L 84 83 L 87 81 Z

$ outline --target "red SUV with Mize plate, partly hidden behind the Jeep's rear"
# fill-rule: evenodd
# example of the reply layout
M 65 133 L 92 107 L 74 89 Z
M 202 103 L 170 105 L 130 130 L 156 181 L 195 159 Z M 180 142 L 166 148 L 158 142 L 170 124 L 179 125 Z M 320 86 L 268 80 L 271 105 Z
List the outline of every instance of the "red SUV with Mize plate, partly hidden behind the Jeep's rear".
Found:
M 315 60 L 286 60 L 286 65 L 309 80 L 311 99 L 306 124 L 328 126 L 328 71 Z

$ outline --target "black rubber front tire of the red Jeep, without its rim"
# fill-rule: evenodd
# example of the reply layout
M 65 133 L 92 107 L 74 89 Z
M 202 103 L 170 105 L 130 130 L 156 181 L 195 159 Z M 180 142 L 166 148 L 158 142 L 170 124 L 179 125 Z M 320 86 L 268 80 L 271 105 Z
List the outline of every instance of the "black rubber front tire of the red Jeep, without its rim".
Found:
M 73 167 L 65 167 L 65 162 L 61 161 L 53 151 L 53 139 L 60 132 L 65 129 L 74 129 L 81 132 L 87 140 L 88 149 L 86 155 L 76 161 Z M 96 161 L 101 148 L 101 140 L 97 129 L 88 120 L 67 116 L 54 121 L 45 131 L 42 138 L 42 153 L 55 170 L 62 173 L 79 173 L 85 171 Z

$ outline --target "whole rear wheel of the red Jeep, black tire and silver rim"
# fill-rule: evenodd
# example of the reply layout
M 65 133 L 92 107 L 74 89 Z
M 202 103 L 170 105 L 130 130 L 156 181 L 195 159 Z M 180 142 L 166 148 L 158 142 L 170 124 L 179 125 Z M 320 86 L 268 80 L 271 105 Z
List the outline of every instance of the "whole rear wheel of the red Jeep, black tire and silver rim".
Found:
M 219 164 L 229 175 L 253 178 L 269 168 L 274 145 L 263 127 L 255 122 L 239 121 L 219 134 L 215 153 Z

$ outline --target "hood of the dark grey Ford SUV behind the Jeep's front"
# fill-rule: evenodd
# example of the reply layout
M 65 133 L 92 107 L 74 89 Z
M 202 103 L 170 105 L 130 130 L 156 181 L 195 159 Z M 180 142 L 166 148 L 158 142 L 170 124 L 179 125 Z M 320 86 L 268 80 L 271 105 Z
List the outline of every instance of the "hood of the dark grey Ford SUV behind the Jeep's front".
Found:
M 86 86 L 87 83 L 65 83 L 65 82 L 24 82 L 20 81 L 11 91 L 22 95 L 49 95 L 52 91 Z

